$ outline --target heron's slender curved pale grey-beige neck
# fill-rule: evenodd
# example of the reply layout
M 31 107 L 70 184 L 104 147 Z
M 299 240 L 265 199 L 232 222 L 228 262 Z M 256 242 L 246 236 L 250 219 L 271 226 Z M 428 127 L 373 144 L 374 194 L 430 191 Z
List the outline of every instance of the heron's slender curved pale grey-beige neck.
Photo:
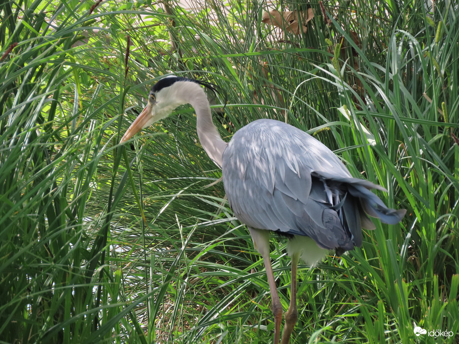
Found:
M 228 143 L 223 141 L 217 128 L 212 122 L 210 104 L 201 86 L 190 83 L 190 92 L 187 94 L 187 102 L 196 111 L 196 131 L 199 141 L 210 159 L 219 167 L 222 167 L 223 152 Z

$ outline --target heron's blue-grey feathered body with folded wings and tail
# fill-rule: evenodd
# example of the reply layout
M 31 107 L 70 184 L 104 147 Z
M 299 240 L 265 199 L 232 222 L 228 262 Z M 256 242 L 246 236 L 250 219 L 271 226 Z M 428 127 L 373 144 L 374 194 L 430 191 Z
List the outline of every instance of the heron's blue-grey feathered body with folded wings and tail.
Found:
M 362 244 L 370 216 L 397 223 L 404 210 L 387 209 L 353 178 L 322 143 L 273 120 L 258 120 L 234 134 L 222 158 L 223 183 L 236 217 L 257 229 L 312 238 L 325 249 Z

